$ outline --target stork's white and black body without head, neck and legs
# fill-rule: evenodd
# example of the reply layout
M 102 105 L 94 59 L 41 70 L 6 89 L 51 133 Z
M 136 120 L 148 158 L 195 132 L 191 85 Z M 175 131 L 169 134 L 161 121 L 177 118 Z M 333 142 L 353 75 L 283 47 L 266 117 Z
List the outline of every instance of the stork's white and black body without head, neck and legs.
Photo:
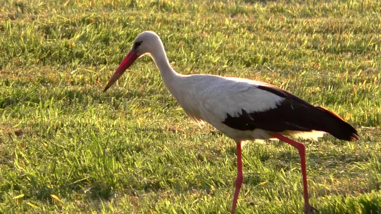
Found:
M 198 125 L 210 123 L 234 140 L 272 139 L 271 133 L 275 132 L 317 140 L 331 129 L 343 132 L 341 139 L 355 134 L 355 129 L 337 115 L 261 81 L 181 75 L 173 69 L 166 72 L 173 73 L 167 75 L 171 78 L 163 78 L 164 83 L 187 115 Z M 312 127 L 314 123 L 320 126 Z M 335 126 L 337 123 L 347 129 L 343 131 L 341 126 Z

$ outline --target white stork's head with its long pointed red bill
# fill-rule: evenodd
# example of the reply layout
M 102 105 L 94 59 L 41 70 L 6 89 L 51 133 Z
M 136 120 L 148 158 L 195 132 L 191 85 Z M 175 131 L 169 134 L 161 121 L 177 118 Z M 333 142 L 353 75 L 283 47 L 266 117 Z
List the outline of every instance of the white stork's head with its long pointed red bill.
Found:
M 159 36 L 152 31 L 144 31 L 136 37 L 130 52 L 120 63 L 115 73 L 110 78 L 103 92 L 109 89 L 136 59 L 146 53 L 152 53 L 163 46 Z

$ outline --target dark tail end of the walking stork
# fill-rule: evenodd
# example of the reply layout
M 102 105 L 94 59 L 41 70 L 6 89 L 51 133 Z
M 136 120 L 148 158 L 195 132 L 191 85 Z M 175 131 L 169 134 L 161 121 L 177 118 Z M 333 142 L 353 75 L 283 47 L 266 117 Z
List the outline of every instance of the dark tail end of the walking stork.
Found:
M 336 113 L 331 112 L 328 109 L 325 109 L 320 106 L 315 106 L 317 109 L 321 110 L 321 116 L 324 118 L 327 123 L 322 124 L 321 130 L 327 133 L 330 133 L 334 137 L 345 140 L 345 141 L 354 141 L 359 139 L 359 133 L 353 126 L 343 120 Z

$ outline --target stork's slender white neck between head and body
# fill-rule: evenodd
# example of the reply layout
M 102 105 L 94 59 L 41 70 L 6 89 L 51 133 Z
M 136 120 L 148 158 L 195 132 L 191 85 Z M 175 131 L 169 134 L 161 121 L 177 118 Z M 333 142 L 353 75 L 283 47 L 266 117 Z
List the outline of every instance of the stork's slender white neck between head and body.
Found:
M 172 94 L 176 93 L 176 83 L 178 83 L 179 77 L 181 77 L 181 75 L 173 70 L 169 64 L 168 58 L 165 54 L 164 46 L 160 44 L 159 48 L 151 52 L 151 57 L 154 59 L 156 66 L 162 75 L 165 86 Z

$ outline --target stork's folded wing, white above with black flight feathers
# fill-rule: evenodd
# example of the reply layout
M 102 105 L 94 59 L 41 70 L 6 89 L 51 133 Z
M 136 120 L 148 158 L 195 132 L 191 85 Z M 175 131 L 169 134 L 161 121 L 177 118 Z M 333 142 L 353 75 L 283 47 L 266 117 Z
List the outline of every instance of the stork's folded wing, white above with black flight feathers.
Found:
M 220 81 L 204 91 L 205 112 L 231 128 L 311 131 L 321 121 L 310 120 L 320 109 L 276 86 L 241 78 Z

